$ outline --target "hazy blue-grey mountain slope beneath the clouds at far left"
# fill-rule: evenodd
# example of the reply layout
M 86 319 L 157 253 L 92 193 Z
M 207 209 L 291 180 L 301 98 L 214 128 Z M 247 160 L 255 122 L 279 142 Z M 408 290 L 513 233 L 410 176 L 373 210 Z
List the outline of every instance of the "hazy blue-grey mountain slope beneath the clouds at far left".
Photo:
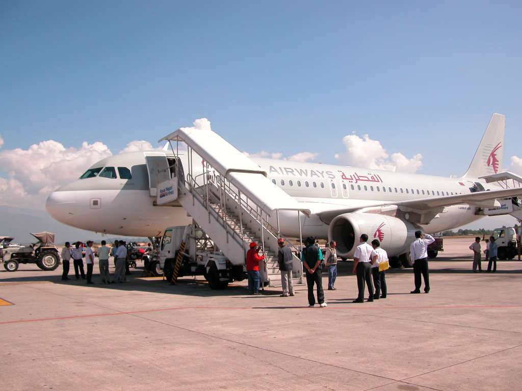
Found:
M 37 233 L 48 231 L 55 234 L 54 242 L 58 245 L 66 241 L 80 240 L 85 242 L 90 239 L 93 241 L 114 240 L 120 238 L 113 235 L 94 234 L 91 231 L 69 227 L 58 223 L 46 211 L 23 209 L 12 206 L 0 206 L 0 236 L 11 236 L 15 243 L 35 242 L 31 232 Z M 128 238 L 121 237 L 127 241 L 147 241 L 147 238 Z M 136 239 L 136 240 L 134 240 Z

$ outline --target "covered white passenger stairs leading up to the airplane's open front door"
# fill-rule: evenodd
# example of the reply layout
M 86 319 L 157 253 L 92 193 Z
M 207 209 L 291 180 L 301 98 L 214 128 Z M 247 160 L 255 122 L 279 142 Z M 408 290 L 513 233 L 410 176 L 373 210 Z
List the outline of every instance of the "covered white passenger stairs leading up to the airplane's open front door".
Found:
M 233 270 L 243 268 L 248 246 L 256 241 L 266 254 L 266 262 L 260 265 L 262 282 L 280 286 L 279 212 L 291 213 L 292 218 L 286 218 L 284 223 L 299 225 L 295 232 L 299 233 L 302 243 L 302 217 L 309 216 L 310 210 L 303 209 L 298 201 L 272 183 L 264 170 L 210 129 L 181 128 L 163 140 L 186 143 L 187 173 L 172 148 L 174 161 L 166 168 L 157 166 L 157 189 L 150 194 L 156 196 L 158 206 L 183 206 L 221 251 L 224 256 L 221 260 L 216 261 L 219 254 L 205 255 L 216 258 L 213 266 L 206 267 L 207 276 L 210 279 L 219 276 L 224 285 L 228 277 L 222 275 L 220 262 L 226 265 L 228 261 Z M 149 173 L 154 172 L 151 167 L 157 164 L 153 159 L 157 160 L 157 156 L 147 161 Z M 202 174 L 194 174 L 195 164 L 200 165 Z M 276 220 L 277 224 L 270 224 Z M 295 253 L 301 251 L 301 246 L 292 246 L 288 240 L 287 243 L 294 253 L 294 284 L 299 284 L 303 282 L 303 271 Z

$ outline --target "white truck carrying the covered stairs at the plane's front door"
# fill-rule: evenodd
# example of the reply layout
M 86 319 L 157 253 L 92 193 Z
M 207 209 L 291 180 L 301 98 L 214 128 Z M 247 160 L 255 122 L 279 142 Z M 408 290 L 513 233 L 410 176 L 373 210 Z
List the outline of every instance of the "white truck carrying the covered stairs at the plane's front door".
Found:
M 185 243 L 180 253 L 182 243 Z M 159 245 L 159 266 L 168 282 L 177 277 L 203 275 L 211 289 L 224 289 L 234 280 L 246 278 L 244 263 L 232 264 L 196 224 L 166 228 Z

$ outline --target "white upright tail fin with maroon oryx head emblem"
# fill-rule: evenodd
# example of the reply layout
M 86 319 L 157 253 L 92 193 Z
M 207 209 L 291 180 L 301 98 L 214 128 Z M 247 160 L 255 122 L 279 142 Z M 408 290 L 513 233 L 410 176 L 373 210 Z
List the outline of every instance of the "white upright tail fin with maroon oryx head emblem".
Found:
M 464 177 L 477 178 L 483 175 L 496 174 L 502 170 L 504 155 L 504 129 L 506 116 L 493 114 L 488 128 L 482 136 L 479 148 Z

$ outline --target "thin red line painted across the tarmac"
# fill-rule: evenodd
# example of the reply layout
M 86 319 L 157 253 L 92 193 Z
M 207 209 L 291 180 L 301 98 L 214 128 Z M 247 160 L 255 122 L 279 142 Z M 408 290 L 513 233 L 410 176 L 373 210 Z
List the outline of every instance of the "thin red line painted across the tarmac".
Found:
M 419 309 L 459 309 L 459 308 L 520 308 L 522 304 L 513 304 L 505 306 L 421 306 L 421 307 L 370 307 L 370 306 L 358 306 L 353 305 L 350 307 L 337 307 L 331 306 L 332 309 L 346 309 L 346 310 L 419 310 Z M 278 307 L 281 309 L 308 309 L 308 307 Z M 137 311 L 122 311 L 122 312 L 110 312 L 110 313 L 99 313 L 99 314 L 85 314 L 85 315 L 71 315 L 71 316 L 58 316 L 58 317 L 42 317 L 39 319 L 21 319 L 17 321 L 0 322 L 3 324 L 13 323 L 31 323 L 31 322 L 45 322 L 45 321 L 60 321 L 67 319 L 81 319 L 84 317 L 96 317 L 96 316 L 114 316 L 114 315 L 132 315 L 147 312 L 161 312 L 161 311 L 176 311 L 176 310 L 255 310 L 255 309 L 270 309 L 270 307 L 170 307 L 170 308 L 158 308 L 154 310 L 137 310 Z

